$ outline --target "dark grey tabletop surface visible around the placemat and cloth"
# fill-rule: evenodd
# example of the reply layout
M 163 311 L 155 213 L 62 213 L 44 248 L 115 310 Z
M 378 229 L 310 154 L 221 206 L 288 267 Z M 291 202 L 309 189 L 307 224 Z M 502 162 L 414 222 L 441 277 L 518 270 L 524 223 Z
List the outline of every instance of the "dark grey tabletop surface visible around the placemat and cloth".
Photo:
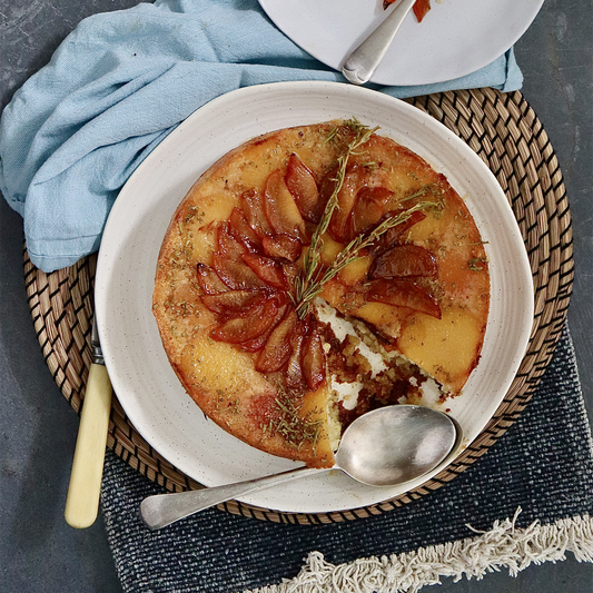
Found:
M 197 0 L 198 1 L 198 0 Z M 136 0 L 0 0 L 0 100 L 50 58 L 85 17 Z M 516 45 L 523 93 L 554 146 L 573 217 L 576 277 L 569 312 L 593 418 L 593 4 L 546 0 Z M 55 385 L 33 333 L 22 274 L 22 221 L 0 200 L 0 592 L 116 593 L 105 527 L 63 521 L 78 417 Z M 429 591 L 429 589 L 426 589 Z M 453 593 L 591 593 L 593 564 L 566 561 L 482 581 L 444 580 Z

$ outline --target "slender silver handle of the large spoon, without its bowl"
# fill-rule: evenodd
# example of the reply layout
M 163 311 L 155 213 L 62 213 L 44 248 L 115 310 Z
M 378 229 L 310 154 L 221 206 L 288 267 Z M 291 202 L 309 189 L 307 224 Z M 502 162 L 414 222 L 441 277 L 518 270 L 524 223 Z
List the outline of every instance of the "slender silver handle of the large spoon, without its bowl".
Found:
M 160 530 L 180 518 L 209 508 L 215 504 L 324 471 L 326 470 L 297 467 L 296 470 L 289 470 L 280 474 L 256 477 L 255 480 L 238 482 L 236 484 L 178 492 L 175 494 L 156 494 L 148 496 L 141 502 L 140 515 L 148 527 Z

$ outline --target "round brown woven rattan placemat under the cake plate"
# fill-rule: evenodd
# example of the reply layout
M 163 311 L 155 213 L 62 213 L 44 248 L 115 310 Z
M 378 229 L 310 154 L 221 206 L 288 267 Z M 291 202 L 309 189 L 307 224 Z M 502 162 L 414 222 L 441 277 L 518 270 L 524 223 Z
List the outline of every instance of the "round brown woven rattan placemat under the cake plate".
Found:
M 531 340 L 517 376 L 496 414 L 472 445 L 428 483 L 396 498 L 347 512 L 278 513 L 230 501 L 228 512 L 290 523 L 327 523 L 392 511 L 451 482 L 484 455 L 517 419 L 534 393 L 566 317 L 573 281 L 572 230 L 562 172 L 542 123 L 521 92 L 461 90 L 408 99 L 459 136 L 501 184 L 527 249 L 535 287 Z M 27 296 L 46 362 L 65 397 L 80 411 L 91 363 L 95 257 L 46 274 L 24 251 Z M 201 487 L 162 458 L 136 431 L 113 397 L 108 446 L 169 491 Z

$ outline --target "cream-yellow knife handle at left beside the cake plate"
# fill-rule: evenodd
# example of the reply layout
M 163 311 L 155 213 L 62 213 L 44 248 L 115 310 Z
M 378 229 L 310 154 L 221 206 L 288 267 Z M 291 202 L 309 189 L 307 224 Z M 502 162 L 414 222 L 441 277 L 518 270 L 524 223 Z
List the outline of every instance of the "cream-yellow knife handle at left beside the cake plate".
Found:
M 92 525 L 99 511 L 111 393 L 107 368 L 92 364 L 82 402 L 72 473 L 63 513 L 66 522 L 79 530 Z

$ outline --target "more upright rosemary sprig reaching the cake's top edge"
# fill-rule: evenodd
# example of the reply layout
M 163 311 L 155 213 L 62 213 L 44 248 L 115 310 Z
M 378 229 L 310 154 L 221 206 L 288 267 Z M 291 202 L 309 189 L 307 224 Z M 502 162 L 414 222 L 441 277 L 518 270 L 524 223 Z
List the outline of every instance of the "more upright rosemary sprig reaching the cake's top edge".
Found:
M 345 130 L 345 128 L 348 128 L 349 130 L 354 131 L 355 136 L 354 139 L 346 145 L 346 148 L 337 159 L 338 168 L 335 178 L 334 191 L 332 192 L 332 196 L 329 196 L 319 225 L 313 234 L 309 249 L 305 256 L 303 273 L 296 280 L 295 303 L 298 305 L 297 312 L 299 310 L 300 304 L 303 303 L 305 295 L 308 294 L 310 291 L 310 288 L 317 284 L 316 275 L 319 270 L 320 256 L 324 247 L 322 237 L 327 230 L 327 227 L 329 226 L 329 221 L 332 220 L 332 216 L 335 209 L 338 207 L 337 197 L 339 190 L 342 189 L 342 186 L 344 185 L 346 169 L 348 167 L 348 160 L 353 155 L 357 155 L 358 152 L 356 151 L 369 140 L 373 134 L 378 130 L 378 126 L 375 128 L 368 128 L 367 126 L 360 123 L 356 118 L 352 118 L 345 121 L 343 126 L 334 128 L 327 136 L 326 142 L 336 141 L 340 139 L 344 135 L 343 132 L 340 134 L 340 130 Z M 308 307 L 300 317 L 303 318 L 307 312 Z

